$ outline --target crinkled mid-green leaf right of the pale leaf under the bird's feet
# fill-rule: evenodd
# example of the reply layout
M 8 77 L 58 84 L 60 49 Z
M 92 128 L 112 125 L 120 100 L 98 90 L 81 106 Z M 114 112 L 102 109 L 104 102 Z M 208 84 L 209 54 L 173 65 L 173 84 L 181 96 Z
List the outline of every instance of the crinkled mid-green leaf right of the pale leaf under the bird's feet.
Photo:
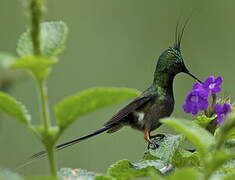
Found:
M 174 167 L 198 167 L 200 166 L 200 159 L 198 152 L 189 152 L 184 149 L 179 149 L 175 152 L 172 165 Z

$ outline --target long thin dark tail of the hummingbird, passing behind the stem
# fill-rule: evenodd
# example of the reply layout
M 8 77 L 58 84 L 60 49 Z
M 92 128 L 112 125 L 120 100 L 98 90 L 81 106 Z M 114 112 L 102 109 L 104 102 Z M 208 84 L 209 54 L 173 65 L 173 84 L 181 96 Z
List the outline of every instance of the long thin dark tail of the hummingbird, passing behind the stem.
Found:
M 85 136 L 81 136 L 81 137 L 76 138 L 76 139 L 73 139 L 73 140 L 71 140 L 71 141 L 68 141 L 68 142 L 59 144 L 59 145 L 57 145 L 57 146 L 55 147 L 55 150 L 56 150 L 56 151 L 60 151 L 60 150 L 62 150 L 62 149 L 64 149 L 64 148 L 67 148 L 67 147 L 69 147 L 69 146 L 72 146 L 72 145 L 74 145 L 74 144 L 77 144 L 77 143 L 79 143 L 79 142 L 81 142 L 81 141 L 83 141 L 83 140 L 85 140 L 85 139 L 88 139 L 88 138 L 91 138 L 91 137 L 93 137 L 93 136 L 95 136 L 95 135 L 101 134 L 101 133 L 103 133 L 103 132 L 109 130 L 109 129 L 112 128 L 112 127 L 113 127 L 113 126 L 111 126 L 111 125 L 110 125 L 110 126 L 104 126 L 104 127 L 100 128 L 100 129 L 98 129 L 98 130 L 96 130 L 96 131 L 93 131 L 93 132 L 91 132 L 91 133 L 89 133 L 89 134 L 87 134 L 87 135 L 85 135 Z M 20 166 L 18 166 L 17 169 L 22 168 L 22 167 L 24 167 L 24 166 L 30 164 L 30 163 L 33 162 L 35 159 L 39 159 L 39 158 L 45 157 L 46 155 L 47 155 L 47 152 L 46 152 L 46 151 L 40 151 L 40 152 L 38 152 L 38 153 L 32 155 L 31 157 L 29 157 L 28 160 L 27 160 L 25 163 L 23 163 L 23 164 L 21 164 Z

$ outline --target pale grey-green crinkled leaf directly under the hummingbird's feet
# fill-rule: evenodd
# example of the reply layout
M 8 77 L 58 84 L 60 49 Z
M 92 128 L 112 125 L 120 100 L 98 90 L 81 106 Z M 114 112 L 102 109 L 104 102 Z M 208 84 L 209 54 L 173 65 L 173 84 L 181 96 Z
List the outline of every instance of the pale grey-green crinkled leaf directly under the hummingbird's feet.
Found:
M 155 149 L 151 149 L 150 147 L 150 154 L 161 159 L 166 164 L 170 164 L 183 139 L 184 137 L 182 135 L 169 134 L 165 134 L 164 138 L 156 137 L 154 141 L 159 147 Z

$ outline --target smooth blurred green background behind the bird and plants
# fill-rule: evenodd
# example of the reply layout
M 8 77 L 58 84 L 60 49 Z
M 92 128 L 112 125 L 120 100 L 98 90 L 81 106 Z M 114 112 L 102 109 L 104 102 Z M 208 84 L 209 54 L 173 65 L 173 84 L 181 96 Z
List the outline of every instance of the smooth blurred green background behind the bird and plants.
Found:
M 15 53 L 17 39 L 28 23 L 22 2 L 0 1 L 0 51 Z M 45 20 L 63 20 L 70 30 L 67 48 L 48 80 L 51 108 L 65 96 L 93 86 L 144 90 L 153 79 L 159 54 L 174 41 L 177 22 L 183 23 L 192 12 L 182 41 L 187 66 L 201 79 L 223 76 L 223 93 L 235 95 L 234 0 L 48 0 L 47 5 Z M 193 83 L 185 74 L 176 77 L 173 116 L 191 118 L 181 105 Z M 35 123 L 40 122 L 31 78 L 15 82 L 9 93 L 27 106 Z M 101 127 L 124 104 L 78 119 L 59 142 Z M 0 166 L 14 169 L 43 147 L 15 120 L 1 119 Z M 137 161 L 146 148 L 142 133 L 123 128 L 65 149 L 57 153 L 57 159 L 59 167 L 105 172 L 117 160 Z M 17 171 L 32 175 L 45 174 L 47 169 L 42 159 Z

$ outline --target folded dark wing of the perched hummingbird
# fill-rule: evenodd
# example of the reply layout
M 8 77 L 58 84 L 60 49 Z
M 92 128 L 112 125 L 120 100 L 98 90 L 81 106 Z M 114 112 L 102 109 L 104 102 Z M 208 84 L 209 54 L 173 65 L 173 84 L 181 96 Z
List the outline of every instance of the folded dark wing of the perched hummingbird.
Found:
M 149 93 L 143 93 L 141 96 L 135 98 L 128 105 L 118 111 L 109 121 L 104 124 L 104 126 L 118 125 L 128 114 L 140 108 L 155 96 L 156 95 L 151 95 Z

